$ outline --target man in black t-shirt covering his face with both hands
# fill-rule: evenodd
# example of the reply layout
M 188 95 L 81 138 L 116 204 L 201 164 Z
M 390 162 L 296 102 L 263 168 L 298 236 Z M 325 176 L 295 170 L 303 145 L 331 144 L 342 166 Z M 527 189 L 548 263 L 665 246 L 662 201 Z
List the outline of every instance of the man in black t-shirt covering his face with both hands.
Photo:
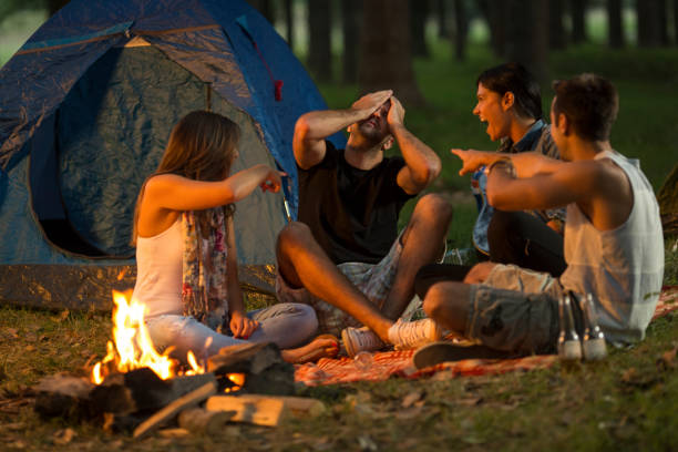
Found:
M 319 329 L 341 332 L 351 356 L 440 337 L 429 319 L 396 321 L 412 299 L 417 271 L 441 257 L 452 209 L 439 195 L 423 196 L 398 234 L 400 209 L 438 177 L 441 162 L 404 127 L 392 94 L 309 112 L 295 126 L 299 222 L 278 237 L 278 298 L 311 305 Z M 346 150 L 336 150 L 326 138 L 345 127 Z M 402 156 L 384 157 L 394 142 Z

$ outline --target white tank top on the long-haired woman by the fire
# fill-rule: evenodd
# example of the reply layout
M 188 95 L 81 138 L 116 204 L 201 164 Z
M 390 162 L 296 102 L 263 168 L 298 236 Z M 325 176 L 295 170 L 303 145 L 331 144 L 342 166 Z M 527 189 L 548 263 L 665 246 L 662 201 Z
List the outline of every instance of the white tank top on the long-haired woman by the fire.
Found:
M 158 235 L 136 237 L 136 284 L 132 297 L 146 305 L 145 318 L 182 314 L 183 259 L 181 215 Z

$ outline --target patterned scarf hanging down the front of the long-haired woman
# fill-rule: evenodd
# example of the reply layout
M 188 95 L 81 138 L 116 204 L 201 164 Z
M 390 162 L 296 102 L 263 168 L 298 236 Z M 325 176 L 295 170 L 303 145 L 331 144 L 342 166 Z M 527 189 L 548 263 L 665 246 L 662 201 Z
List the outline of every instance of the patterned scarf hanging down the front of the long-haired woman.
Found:
M 184 316 L 214 328 L 227 309 L 226 285 L 226 215 L 223 207 L 204 210 L 207 220 L 201 224 L 194 212 L 182 214 L 184 259 L 182 302 Z M 209 228 L 203 234 L 203 228 Z

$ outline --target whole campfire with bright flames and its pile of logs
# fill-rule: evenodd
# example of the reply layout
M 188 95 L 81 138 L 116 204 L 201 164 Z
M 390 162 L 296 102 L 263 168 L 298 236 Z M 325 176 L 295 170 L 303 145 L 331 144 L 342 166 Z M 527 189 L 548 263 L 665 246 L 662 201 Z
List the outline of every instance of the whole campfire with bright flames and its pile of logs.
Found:
M 321 411 L 317 400 L 288 397 L 295 391 L 294 367 L 275 345 L 227 347 L 206 362 L 188 352 L 186 367 L 170 356 L 172 350 L 157 352 L 144 325 L 144 306 L 131 291 L 114 291 L 113 301 L 106 356 L 89 380 L 43 379 L 35 388 L 40 414 L 96 419 L 109 431 L 138 438 L 172 422 L 205 432 L 219 431 L 227 421 L 276 425 L 286 411 Z

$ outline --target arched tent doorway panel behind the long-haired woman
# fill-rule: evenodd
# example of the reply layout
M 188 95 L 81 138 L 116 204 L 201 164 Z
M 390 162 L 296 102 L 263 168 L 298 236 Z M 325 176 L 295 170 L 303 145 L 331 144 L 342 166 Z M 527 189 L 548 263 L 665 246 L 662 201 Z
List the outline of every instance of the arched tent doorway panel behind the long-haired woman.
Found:
M 275 165 L 251 117 L 152 45 L 113 48 L 75 83 L 55 115 L 31 140 L 31 192 L 45 236 L 89 257 L 134 255 L 136 196 L 156 168 L 174 124 L 209 109 L 238 123 L 240 157 L 233 171 Z M 238 203 L 242 261 L 275 261 L 284 226 L 281 199 Z M 251 244 L 261 244 L 253 247 Z

